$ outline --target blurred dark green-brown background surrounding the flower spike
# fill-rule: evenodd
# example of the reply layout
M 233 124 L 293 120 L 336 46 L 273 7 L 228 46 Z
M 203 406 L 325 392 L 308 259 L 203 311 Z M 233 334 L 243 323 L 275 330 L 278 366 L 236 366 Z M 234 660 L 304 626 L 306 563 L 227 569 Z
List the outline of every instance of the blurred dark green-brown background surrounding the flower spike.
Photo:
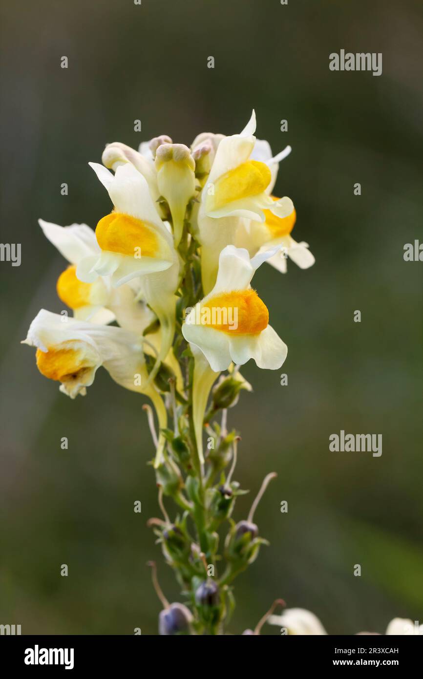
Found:
M 155 634 L 152 558 L 180 598 L 146 526 L 159 509 L 143 397 L 100 370 L 70 401 L 19 344 L 39 308 L 62 309 L 64 261 L 37 219 L 94 227 L 109 211 L 87 164 L 105 143 L 234 134 L 253 107 L 257 136 L 275 153 L 293 147 L 276 194 L 293 198 L 293 235 L 316 265 L 291 263 L 286 276 L 263 266 L 255 278 L 289 346 L 289 384 L 251 363 L 255 391 L 229 414 L 242 486 L 255 492 L 278 472 L 256 515 L 271 547 L 236 581 L 231 631 L 277 597 L 313 610 L 330 634 L 422 621 L 423 264 L 403 261 L 404 244 L 422 238 L 422 3 L 8 2 L 1 23 L 1 242 L 22 243 L 22 265 L 0 264 L 0 623 Z M 382 76 L 329 71 L 341 48 L 382 52 Z M 341 429 L 382 433 L 382 457 L 329 452 Z M 236 519 L 250 503 L 238 501 Z

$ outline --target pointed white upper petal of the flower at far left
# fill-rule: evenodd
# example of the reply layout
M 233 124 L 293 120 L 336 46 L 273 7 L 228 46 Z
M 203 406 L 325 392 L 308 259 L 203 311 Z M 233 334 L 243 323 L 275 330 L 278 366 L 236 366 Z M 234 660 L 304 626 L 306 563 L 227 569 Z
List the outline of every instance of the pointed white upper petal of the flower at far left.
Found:
M 43 219 L 38 220 L 43 234 L 71 264 L 100 252 L 95 232 L 86 224 L 58 226 Z

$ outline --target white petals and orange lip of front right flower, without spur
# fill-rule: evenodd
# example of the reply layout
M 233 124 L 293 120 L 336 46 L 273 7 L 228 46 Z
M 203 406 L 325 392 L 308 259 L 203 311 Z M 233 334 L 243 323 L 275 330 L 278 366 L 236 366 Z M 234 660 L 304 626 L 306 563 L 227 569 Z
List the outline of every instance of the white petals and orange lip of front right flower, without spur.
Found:
M 274 254 L 272 250 L 250 259 L 246 250 L 226 246 L 215 287 L 185 318 L 183 336 L 200 348 L 213 371 L 249 359 L 275 370 L 286 359 L 287 346 L 269 325 L 268 309 L 250 286 L 255 270 Z

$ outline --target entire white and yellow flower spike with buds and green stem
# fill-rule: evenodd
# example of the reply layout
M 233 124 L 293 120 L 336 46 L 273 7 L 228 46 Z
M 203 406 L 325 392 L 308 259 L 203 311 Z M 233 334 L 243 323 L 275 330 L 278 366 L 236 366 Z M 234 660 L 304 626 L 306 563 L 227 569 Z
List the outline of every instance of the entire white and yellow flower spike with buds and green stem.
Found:
M 291 149 L 273 156 L 255 138 L 255 125 L 253 112 L 240 134 L 203 133 L 191 147 L 165 135 L 139 151 L 111 143 L 103 164 L 90 163 L 112 206 L 95 231 L 39 221 L 67 259 L 57 293 L 73 311 L 70 318 L 41 310 L 31 323 L 24 342 L 37 349 L 39 371 L 73 399 L 103 366 L 155 408 L 158 433 L 145 406 L 164 519 L 151 526 L 187 598 L 187 606 L 166 602 L 162 634 L 220 633 L 233 601 L 230 583 L 265 542 L 253 513 L 274 475 L 263 481 L 249 518 L 235 523 L 234 502 L 244 491 L 233 480 L 239 437 L 227 430 L 227 408 L 251 390 L 241 365 L 253 359 L 278 369 L 287 356 L 251 287 L 255 271 L 267 262 L 286 272 L 288 257 L 305 269 L 314 257 L 291 236 L 291 199 L 272 195 Z M 219 411 L 221 424 L 213 422 Z M 174 521 L 164 496 L 181 509 Z M 217 530 L 225 521 L 221 557 Z

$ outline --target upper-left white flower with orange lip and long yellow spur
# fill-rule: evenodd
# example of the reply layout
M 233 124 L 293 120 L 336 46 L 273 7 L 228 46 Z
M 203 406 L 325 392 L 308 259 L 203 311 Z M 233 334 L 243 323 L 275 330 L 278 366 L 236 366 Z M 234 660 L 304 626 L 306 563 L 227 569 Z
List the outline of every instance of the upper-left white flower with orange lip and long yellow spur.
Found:
M 160 219 L 143 175 L 130 163 L 115 176 L 102 165 L 90 164 L 109 191 L 115 210 L 96 227 L 100 255 L 82 259 L 77 278 L 93 282 L 111 276 L 112 287 L 139 278 L 140 295 L 158 316 L 162 344 L 150 379 L 168 354 L 174 335 L 174 292 L 179 285 L 179 259 L 172 235 Z

